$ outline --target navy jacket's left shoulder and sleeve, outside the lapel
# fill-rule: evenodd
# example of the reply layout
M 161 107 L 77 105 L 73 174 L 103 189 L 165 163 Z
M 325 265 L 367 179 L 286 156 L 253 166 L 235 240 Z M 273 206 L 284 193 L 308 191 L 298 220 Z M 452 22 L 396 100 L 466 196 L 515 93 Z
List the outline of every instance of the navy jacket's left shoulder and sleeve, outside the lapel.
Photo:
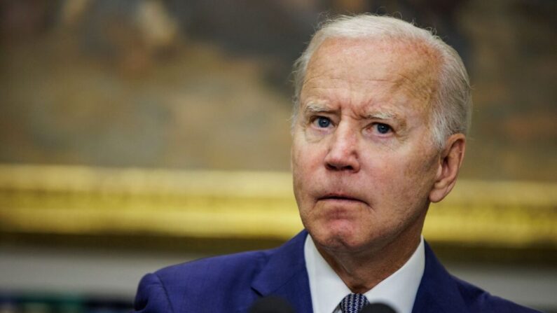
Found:
M 146 274 L 139 282 L 134 312 L 226 312 L 253 302 L 252 280 L 270 251 L 203 258 Z

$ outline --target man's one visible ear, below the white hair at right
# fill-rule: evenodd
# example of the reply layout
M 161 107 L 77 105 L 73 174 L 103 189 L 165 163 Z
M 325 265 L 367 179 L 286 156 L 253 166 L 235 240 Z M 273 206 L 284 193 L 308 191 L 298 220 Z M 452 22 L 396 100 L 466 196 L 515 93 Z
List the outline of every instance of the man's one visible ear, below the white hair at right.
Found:
M 445 148 L 439 155 L 439 168 L 435 182 L 429 192 L 429 201 L 439 202 L 451 192 L 455 186 L 462 160 L 464 160 L 465 150 L 466 137 L 464 134 L 453 134 L 445 141 Z

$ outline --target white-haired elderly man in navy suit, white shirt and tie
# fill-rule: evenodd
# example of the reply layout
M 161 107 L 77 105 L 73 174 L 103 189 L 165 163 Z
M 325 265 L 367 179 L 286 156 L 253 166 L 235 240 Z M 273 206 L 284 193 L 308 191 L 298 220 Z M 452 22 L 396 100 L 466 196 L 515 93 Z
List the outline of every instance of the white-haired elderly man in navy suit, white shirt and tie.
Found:
M 368 302 L 533 312 L 452 277 L 421 237 L 465 153 L 472 101 L 455 50 L 401 20 L 343 17 L 313 36 L 295 76 L 291 162 L 305 230 L 277 249 L 147 274 L 137 312 L 247 312 L 267 295 L 296 312 Z

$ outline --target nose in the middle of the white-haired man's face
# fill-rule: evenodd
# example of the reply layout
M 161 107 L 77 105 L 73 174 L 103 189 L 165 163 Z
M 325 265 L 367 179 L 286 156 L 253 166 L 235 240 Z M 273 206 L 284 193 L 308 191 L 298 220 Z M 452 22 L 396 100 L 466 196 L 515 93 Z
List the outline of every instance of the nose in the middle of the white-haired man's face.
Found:
M 329 141 L 325 167 L 331 171 L 358 172 L 358 136 L 348 125 L 338 125 Z

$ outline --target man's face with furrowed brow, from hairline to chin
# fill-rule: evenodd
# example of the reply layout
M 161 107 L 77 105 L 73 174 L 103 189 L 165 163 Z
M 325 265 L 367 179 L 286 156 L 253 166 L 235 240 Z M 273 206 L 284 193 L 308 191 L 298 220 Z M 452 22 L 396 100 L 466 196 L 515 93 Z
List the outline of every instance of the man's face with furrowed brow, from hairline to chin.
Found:
M 420 43 L 326 39 L 294 121 L 300 215 L 318 246 L 378 249 L 419 238 L 439 151 L 429 129 L 436 55 Z

